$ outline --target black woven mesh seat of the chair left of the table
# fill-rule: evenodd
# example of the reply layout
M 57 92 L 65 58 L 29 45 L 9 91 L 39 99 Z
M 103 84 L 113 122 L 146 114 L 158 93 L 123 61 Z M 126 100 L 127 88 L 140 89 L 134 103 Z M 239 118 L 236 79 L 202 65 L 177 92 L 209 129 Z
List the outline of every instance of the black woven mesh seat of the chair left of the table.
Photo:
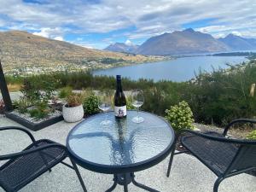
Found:
M 38 146 L 44 146 L 54 142 L 44 139 L 38 140 L 36 143 Z M 38 146 L 31 144 L 26 149 L 37 148 Z M 7 191 L 17 191 L 66 157 L 67 154 L 64 149 L 50 147 L 15 160 L 9 160 L 0 167 L 0 185 Z

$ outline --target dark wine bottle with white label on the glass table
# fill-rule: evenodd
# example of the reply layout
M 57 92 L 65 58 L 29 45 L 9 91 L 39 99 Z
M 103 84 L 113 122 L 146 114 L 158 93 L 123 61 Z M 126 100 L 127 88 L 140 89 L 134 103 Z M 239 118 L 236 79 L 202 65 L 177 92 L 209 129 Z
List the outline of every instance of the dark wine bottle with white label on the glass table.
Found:
M 121 75 L 116 76 L 116 91 L 113 98 L 114 103 L 114 116 L 116 118 L 126 117 L 126 99 L 122 89 Z

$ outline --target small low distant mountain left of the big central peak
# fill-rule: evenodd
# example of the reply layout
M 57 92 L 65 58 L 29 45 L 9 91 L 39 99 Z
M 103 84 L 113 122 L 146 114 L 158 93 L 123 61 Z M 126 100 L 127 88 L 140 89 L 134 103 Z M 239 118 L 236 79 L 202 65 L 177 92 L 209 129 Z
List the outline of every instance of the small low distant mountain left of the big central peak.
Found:
M 115 44 L 110 44 L 104 50 L 121 52 L 121 53 L 136 53 L 137 48 L 138 48 L 138 45 L 136 44 L 115 43 Z

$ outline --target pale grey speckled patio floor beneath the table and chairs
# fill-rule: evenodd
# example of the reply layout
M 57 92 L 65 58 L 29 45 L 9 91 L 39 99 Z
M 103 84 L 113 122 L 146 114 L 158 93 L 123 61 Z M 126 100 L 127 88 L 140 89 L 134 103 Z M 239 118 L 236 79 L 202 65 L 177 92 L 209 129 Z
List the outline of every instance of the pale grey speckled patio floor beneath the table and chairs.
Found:
M 19 125 L 6 118 L 0 118 L 0 126 Z M 32 132 L 36 139 L 49 138 L 55 142 L 65 144 L 68 132 L 76 124 L 61 121 L 55 125 L 44 128 L 41 131 Z M 4 132 L 4 134 L 3 134 Z M 0 154 L 17 152 L 25 148 L 30 140 L 25 134 L 19 131 L 0 131 Z M 14 142 L 15 141 L 15 142 Z M 92 146 L 93 147 L 93 146 Z M 210 192 L 216 176 L 210 172 L 199 160 L 189 154 L 179 154 L 174 156 L 172 172 L 170 177 L 166 177 L 166 169 L 169 156 L 157 166 L 151 167 L 143 172 L 136 172 L 136 179 L 149 187 L 162 192 Z M 67 166 L 58 165 L 46 172 L 35 181 L 21 189 L 22 192 L 78 192 L 82 191 L 79 180 L 75 172 Z M 90 172 L 79 167 L 84 183 L 90 192 L 102 192 L 113 184 L 113 176 Z M 129 191 L 144 191 L 133 184 L 128 186 Z M 114 191 L 122 192 L 123 188 L 118 186 Z M 253 192 L 256 191 L 256 177 L 240 174 L 224 180 L 219 186 L 219 192 Z M 0 192 L 3 189 L 0 188 Z

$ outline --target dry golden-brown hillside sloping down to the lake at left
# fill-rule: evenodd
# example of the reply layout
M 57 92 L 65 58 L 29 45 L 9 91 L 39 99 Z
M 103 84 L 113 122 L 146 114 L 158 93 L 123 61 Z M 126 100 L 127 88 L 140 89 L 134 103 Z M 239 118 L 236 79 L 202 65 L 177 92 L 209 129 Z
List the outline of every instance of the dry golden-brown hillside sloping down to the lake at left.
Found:
M 74 71 L 154 61 L 143 55 L 87 49 L 64 41 L 33 35 L 29 32 L 0 32 L 0 56 L 6 73 L 41 73 L 43 70 Z

